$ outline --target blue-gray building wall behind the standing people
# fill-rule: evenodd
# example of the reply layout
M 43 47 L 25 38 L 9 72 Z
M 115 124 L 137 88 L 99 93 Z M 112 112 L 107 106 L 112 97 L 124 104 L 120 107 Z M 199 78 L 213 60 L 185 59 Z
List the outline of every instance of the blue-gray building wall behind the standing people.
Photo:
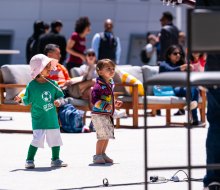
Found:
M 13 55 L 11 64 L 24 64 L 25 44 L 35 20 L 61 19 L 62 33 L 68 38 L 76 19 L 89 16 L 92 32 L 87 38 L 87 47 L 90 47 L 94 33 L 101 32 L 103 21 L 111 18 L 122 44 L 120 64 L 126 64 L 130 34 L 160 30 L 159 18 L 163 11 L 176 13 L 175 8 L 163 6 L 160 0 L 0 0 L 0 31 L 14 31 L 13 49 L 19 49 L 21 54 Z M 184 17 L 185 11 L 182 13 Z

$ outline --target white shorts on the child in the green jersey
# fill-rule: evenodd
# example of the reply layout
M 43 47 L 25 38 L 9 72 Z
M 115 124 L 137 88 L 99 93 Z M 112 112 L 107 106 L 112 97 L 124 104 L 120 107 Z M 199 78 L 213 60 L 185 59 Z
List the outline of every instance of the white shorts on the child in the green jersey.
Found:
M 32 146 L 38 148 L 44 148 L 44 141 L 47 141 L 48 146 L 61 146 L 63 145 L 60 129 L 36 129 L 33 130 L 33 140 L 31 142 Z

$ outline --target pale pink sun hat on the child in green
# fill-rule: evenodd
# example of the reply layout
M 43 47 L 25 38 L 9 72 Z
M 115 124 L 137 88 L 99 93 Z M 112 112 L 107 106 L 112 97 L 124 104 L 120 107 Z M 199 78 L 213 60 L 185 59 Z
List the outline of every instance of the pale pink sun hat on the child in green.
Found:
M 44 70 L 48 63 L 51 63 L 52 68 L 55 68 L 57 60 L 49 58 L 44 54 L 37 54 L 33 56 L 30 60 L 32 78 L 36 78 L 36 76 Z

